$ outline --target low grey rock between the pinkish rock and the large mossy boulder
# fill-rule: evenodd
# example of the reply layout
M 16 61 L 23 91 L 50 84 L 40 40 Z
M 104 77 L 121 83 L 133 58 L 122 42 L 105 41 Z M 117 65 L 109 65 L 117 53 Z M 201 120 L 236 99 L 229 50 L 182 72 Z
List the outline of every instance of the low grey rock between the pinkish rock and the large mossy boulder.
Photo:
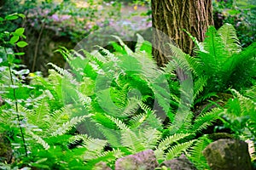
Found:
M 182 155 L 178 158 L 172 159 L 170 161 L 164 161 L 160 164 L 160 167 L 170 167 L 172 170 L 194 170 L 196 169 L 193 163 L 189 159 Z

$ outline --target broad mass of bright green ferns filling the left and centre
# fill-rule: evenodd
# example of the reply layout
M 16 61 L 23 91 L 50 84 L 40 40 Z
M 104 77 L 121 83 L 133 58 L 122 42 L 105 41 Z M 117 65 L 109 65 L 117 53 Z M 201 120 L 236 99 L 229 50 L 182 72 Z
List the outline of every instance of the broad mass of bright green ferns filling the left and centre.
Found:
M 30 73 L 30 85 L 15 75 L 6 77 L 9 70 L 3 67 L 3 84 L 13 77 L 17 89 L 27 94 L 15 99 L 8 93 L 13 88 L 1 87 L 8 103 L 0 108 L 1 128 L 13 133 L 11 141 L 19 149 L 20 139 L 15 138 L 19 123 L 12 114 L 17 100 L 28 150 L 26 158 L 15 150 L 13 167 L 91 169 L 100 161 L 113 167 L 120 156 L 148 149 L 154 150 L 159 162 L 182 153 L 205 161 L 189 148 L 203 149 L 205 144 L 196 134 L 212 125 L 219 110 L 193 117 L 189 102 L 177 93 L 189 84 L 172 81 L 177 79 L 172 61 L 159 69 L 151 44 L 143 37 L 138 35 L 135 51 L 115 38 L 113 53 L 102 47 L 92 53 L 57 50 L 68 68 L 49 64 L 54 68 L 49 77 Z M 28 73 L 21 72 L 21 76 Z

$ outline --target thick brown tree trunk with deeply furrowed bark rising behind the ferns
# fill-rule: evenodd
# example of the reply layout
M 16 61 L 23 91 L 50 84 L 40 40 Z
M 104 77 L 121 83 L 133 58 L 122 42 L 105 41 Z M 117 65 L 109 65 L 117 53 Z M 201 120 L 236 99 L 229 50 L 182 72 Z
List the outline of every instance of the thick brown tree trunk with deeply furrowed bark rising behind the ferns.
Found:
M 192 54 L 194 43 L 183 29 L 203 41 L 207 27 L 213 26 L 211 0 L 152 0 L 151 3 L 153 55 L 159 66 L 169 60 L 167 42 L 174 42 L 183 52 Z

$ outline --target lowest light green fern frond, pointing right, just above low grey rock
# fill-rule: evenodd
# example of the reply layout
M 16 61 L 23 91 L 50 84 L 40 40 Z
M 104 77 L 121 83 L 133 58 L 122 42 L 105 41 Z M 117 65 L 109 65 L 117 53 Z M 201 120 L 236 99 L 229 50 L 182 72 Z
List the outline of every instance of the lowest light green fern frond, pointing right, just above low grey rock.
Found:
M 195 143 L 196 140 L 189 140 L 188 142 L 184 142 L 182 144 L 177 144 L 172 146 L 166 153 L 165 159 L 172 160 L 173 158 L 179 156 L 184 151 L 188 150 L 189 147 Z

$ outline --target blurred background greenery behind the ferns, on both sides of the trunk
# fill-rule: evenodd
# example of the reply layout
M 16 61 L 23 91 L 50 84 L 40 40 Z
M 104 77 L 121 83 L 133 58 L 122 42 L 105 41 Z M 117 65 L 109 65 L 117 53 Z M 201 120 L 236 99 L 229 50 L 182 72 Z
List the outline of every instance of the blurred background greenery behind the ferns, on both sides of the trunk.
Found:
M 28 47 L 20 59 L 31 71 L 47 72 L 46 63 L 63 66 L 61 56 L 53 52 L 59 46 L 74 48 L 78 42 L 94 35 L 93 42 L 109 42 L 106 36 L 117 35 L 132 41 L 140 33 L 150 42 L 150 0 L 1 0 L 0 17 L 25 14 L 26 20 L 11 20 L 4 30 L 25 28 Z M 235 26 L 241 47 L 246 48 L 256 37 L 256 1 L 212 0 L 214 24 Z M 105 32 L 100 32 L 104 28 Z M 111 31 L 107 30 L 111 28 Z M 105 39 L 107 39 L 105 41 Z M 99 44 L 102 45 L 102 44 Z M 133 45 L 133 44 L 131 44 Z M 40 59 L 38 59 L 40 56 Z M 47 74 L 47 73 L 46 73 Z

